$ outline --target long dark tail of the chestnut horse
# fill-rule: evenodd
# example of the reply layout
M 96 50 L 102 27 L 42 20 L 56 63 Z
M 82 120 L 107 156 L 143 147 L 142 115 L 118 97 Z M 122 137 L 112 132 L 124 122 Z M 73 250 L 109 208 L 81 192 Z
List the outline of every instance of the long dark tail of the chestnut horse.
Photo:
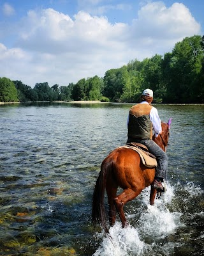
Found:
M 106 225 L 106 212 L 104 205 L 104 196 L 106 188 L 107 173 L 112 168 L 112 161 L 105 159 L 101 164 L 101 172 L 99 172 L 98 179 L 94 188 L 92 198 L 92 224 L 99 223 L 102 225 L 106 233 L 109 233 Z

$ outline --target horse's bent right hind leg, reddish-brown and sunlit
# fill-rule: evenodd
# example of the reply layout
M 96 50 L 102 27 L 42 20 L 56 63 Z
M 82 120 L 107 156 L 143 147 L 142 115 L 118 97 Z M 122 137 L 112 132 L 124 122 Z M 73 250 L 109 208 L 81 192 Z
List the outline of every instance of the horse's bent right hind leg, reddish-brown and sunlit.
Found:
M 137 189 L 136 191 L 133 191 L 132 189 L 124 189 L 124 191 L 117 197 L 114 198 L 115 207 L 117 209 L 117 212 L 119 212 L 120 221 L 122 222 L 122 228 L 126 227 L 127 221 L 126 216 L 123 211 L 124 205 L 136 198 L 136 196 L 140 195 L 142 189 Z

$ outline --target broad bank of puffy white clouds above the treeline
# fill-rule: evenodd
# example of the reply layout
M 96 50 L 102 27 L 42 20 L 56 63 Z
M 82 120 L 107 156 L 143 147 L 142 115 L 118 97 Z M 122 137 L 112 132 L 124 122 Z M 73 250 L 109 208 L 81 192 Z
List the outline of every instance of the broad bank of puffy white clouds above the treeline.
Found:
M 1 28 L 0 28 L 1 30 Z M 31 10 L 18 24 L 15 47 L 0 44 L 0 77 L 31 85 L 68 85 L 130 60 L 164 54 L 179 40 L 200 33 L 184 4 L 149 3 L 131 25 L 78 12 L 73 19 L 53 9 Z M 3 61 L 2 61 L 3 60 Z

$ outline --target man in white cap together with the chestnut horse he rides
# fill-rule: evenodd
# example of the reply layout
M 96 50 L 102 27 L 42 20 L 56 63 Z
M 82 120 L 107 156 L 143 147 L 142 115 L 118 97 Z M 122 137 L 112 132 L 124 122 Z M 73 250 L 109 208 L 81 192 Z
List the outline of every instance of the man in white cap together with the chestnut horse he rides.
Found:
M 136 152 L 135 148 L 129 148 L 129 145 L 117 147 L 106 156 L 101 164 L 92 199 L 92 223 L 100 223 L 105 232 L 108 232 L 105 191 L 108 197 L 110 226 L 114 225 L 118 213 L 123 228 L 128 225 L 124 214 L 126 203 L 140 195 L 143 189 L 151 186 L 150 205 L 154 205 L 157 191 L 164 191 L 161 182 L 166 178 L 167 172 L 167 156 L 164 151 L 168 145 L 171 118 L 168 123 L 161 122 L 157 109 L 150 106 L 152 99 L 152 90 L 146 89 L 142 93 L 142 102 L 130 109 L 128 143 L 138 142 L 149 148 L 150 154 L 157 157 L 157 170 L 156 164 L 145 165 L 139 152 Z M 122 189 L 119 194 L 118 188 Z

